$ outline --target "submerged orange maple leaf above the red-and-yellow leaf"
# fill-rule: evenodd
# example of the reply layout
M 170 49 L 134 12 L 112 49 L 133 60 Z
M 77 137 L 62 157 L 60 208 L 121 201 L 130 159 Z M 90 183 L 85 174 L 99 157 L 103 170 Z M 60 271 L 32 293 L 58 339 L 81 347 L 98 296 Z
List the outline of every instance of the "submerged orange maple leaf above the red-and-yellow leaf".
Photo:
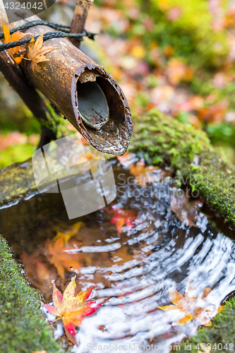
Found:
M 59 237 L 56 241 L 47 241 L 45 255 L 62 278 L 65 270 L 78 273 L 83 261 L 78 253 L 80 246 L 81 243 L 75 240 L 69 241 L 65 246 L 64 237 Z

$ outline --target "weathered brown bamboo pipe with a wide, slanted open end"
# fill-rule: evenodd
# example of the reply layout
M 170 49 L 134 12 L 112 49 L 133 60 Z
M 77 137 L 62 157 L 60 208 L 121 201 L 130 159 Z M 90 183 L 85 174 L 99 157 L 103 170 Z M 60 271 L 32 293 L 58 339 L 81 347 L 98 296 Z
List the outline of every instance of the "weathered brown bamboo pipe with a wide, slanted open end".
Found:
M 24 18 L 23 13 L 18 11 L 14 16 L 18 20 Z M 40 18 L 33 16 L 30 20 L 40 20 Z M 27 21 L 23 20 L 20 24 L 25 22 Z M 52 28 L 37 25 L 25 32 L 36 36 L 42 34 L 44 30 L 51 32 Z M 45 45 L 59 48 L 47 54 L 49 61 L 37 64 L 35 71 L 32 71 L 30 61 L 24 60 L 21 65 L 30 85 L 40 90 L 88 140 L 90 145 L 102 152 L 123 155 L 130 143 L 133 124 L 128 102 L 119 85 L 103 67 L 74 47 L 69 40 L 53 38 L 47 40 Z M 101 90 L 102 103 L 105 100 L 107 104 L 105 114 L 108 115 L 109 119 L 106 124 L 102 120 L 107 119 L 107 116 L 105 119 L 103 119 L 103 116 L 99 116 L 99 112 L 102 112 L 100 95 L 97 95 L 96 101 L 93 92 L 91 102 L 90 90 L 92 92 Z M 85 97 L 83 96 L 84 91 L 86 92 Z M 85 102 L 86 98 L 87 103 Z M 91 103 L 93 107 L 97 104 L 98 114 L 94 112 L 92 118 L 97 125 L 100 122 L 103 124 L 99 129 L 87 124 L 90 116 L 88 116 L 87 121 L 84 119 L 86 118 L 84 116 L 85 104 L 89 108 L 92 105 Z

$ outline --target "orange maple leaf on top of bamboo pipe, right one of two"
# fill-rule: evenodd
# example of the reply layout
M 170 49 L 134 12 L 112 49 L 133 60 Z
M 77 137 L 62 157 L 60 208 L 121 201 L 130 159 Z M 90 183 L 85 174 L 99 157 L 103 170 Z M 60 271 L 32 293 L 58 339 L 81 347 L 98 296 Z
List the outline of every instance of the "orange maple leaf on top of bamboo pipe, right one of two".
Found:
M 40 35 L 40 37 L 37 38 L 36 42 L 34 37 L 32 37 L 32 40 L 30 40 L 30 43 L 28 44 L 28 60 L 32 61 L 32 71 L 35 71 L 35 67 L 37 64 L 43 61 L 49 61 L 49 59 L 47 59 L 44 54 L 52 52 L 52 50 L 54 49 L 58 49 L 56 47 L 49 46 L 42 47 L 44 32 L 42 33 L 42 35 Z

